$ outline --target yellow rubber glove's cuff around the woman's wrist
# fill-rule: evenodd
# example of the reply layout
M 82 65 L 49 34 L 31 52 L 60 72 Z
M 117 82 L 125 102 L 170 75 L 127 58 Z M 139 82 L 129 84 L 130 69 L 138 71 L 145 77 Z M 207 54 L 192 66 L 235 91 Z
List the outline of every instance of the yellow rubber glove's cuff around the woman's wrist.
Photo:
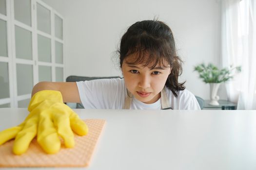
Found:
M 28 105 L 28 111 L 31 112 L 40 102 L 49 100 L 52 102 L 63 102 L 60 91 L 56 90 L 41 90 L 35 93 Z

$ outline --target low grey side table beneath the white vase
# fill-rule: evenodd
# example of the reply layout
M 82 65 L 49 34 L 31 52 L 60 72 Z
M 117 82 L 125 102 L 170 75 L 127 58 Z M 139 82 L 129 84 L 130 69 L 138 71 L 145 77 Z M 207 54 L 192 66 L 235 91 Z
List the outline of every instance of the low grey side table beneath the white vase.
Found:
M 226 100 L 219 100 L 219 105 L 213 106 L 209 104 L 210 100 L 204 101 L 204 110 L 236 110 L 236 103 Z

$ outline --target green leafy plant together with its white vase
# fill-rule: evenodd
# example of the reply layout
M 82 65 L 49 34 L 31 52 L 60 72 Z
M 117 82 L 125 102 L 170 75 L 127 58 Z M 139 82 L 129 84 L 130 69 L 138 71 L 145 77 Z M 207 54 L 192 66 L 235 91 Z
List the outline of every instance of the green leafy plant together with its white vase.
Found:
M 194 71 L 199 73 L 199 78 L 203 79 L 203 82 L 210 84 L 211 102 L 209 104 L 219 105 L 219 97 L 217 96 L 217 91 L 220 83 L 233 79 L 236 73 L 241 72 L 241 67 L 231 66 L 230 68 L 219 69 L 211 63 L 207 66 L 202 63 L 197 65 L 194 68 Z

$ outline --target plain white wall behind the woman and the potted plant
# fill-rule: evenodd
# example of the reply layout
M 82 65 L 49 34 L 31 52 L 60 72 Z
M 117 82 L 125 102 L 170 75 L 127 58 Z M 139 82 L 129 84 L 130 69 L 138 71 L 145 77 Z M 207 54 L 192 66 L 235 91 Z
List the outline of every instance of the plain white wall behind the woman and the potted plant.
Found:
M 209 99 L 193 67 L 220 66 L 220 4 L 217 0 L 43 0 L 65 17 L 66 76 L 121 75 L 114 51 L 126 29 L 138 20 L 166 22 L 184 60 L 180 81 L 195 95 Z M 62 2 L 62 3 L 61 3 Z M 225 87 L 220 98 L 226 99 Z

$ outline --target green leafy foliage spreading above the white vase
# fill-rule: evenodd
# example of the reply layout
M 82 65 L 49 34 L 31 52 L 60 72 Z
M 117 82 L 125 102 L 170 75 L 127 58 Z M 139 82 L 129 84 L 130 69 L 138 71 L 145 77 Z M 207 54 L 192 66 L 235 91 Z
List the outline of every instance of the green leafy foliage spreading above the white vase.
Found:
M 206 66 L 204 63 L 197 65 L 194 71 L 199 73 L 199 77 L 203 79 L 205 83 L 221 83 L 229 81 L 234 77 L 236 73 L 241 72 L 241 67 L 222 68 L 218 69 L 213 64 Z

